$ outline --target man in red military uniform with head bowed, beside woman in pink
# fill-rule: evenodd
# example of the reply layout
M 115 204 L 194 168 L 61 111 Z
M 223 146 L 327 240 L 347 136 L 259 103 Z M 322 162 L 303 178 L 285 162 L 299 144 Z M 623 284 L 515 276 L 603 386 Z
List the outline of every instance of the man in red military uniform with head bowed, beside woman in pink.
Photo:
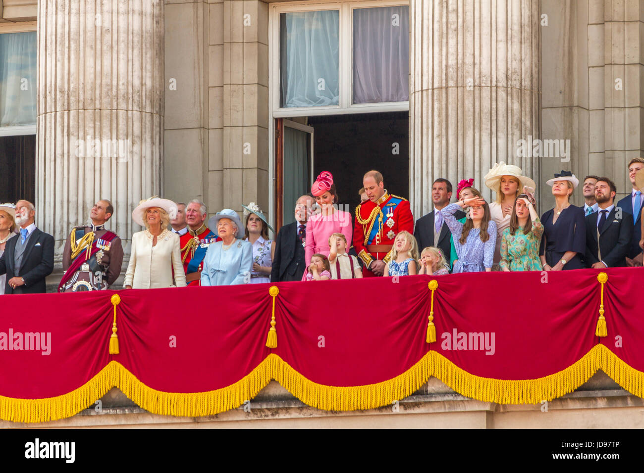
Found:
M 412 209 L 407 199 L 384 189 L 380 172 L 367 172 L 363 184 L 369 200 L 355 209 L 354 249 L 365 263 L 364 277 L 382 276 L 398 232 L 413 234 Z

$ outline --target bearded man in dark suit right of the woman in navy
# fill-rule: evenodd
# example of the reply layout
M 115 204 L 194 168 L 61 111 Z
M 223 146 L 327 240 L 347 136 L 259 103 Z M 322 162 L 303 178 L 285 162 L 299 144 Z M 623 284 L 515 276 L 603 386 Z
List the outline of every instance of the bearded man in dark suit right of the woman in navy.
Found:
M 595 184 L 595 200 L 599 209 L 586 216 L 587 268 L 626 266 L 633 218 L 613 205 L 616 191 L 609 178 L 599 178 Z

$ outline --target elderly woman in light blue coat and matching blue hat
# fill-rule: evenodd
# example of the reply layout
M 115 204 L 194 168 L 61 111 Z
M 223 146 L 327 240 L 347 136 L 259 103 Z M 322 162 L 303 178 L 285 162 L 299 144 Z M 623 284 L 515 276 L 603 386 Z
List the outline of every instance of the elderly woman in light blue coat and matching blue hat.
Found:
M 204 257 L 202 286 L 229 286 L 251 282 L 252 245 L 243 241 L 242 221 L 237 212 L 223 209 L 208 220 L 222 241 L 211 243 Z

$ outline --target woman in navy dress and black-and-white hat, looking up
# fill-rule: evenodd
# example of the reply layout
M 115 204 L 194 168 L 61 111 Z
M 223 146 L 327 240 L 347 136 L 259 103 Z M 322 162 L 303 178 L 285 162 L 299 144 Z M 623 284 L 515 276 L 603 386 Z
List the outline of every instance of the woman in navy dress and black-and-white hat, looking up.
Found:
M 554 174 L 547 181 L 553 187 L 554 209 L 541 217 L 544 234 L 539 255 L 544 271 L 583 268 L 581 256 L 586 249 L 586 223 L 583 209 L 569 201 L 579 180 L 570 171 Z

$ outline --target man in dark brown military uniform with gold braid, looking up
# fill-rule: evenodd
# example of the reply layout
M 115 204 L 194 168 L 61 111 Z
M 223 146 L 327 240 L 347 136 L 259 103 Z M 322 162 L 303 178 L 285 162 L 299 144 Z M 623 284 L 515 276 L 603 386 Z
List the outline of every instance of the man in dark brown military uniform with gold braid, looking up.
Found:
M 91 225 L 74 227 L 62 252 L 62 276 L 58 292 L 107 289 L 120 275 L 123 246 L 105 224 L 114 213 L 109 200 L 102 199 L 90 211 Z

